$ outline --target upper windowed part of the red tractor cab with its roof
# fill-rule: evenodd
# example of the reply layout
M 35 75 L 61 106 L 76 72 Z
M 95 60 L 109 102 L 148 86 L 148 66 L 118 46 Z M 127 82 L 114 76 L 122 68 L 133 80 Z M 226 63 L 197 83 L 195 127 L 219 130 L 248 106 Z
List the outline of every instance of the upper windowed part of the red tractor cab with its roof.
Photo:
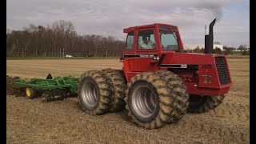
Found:
M 124 29 L 123 32 L 127 33 L 124 56 L 126 54 L 150 54 L 183 50 L 182 39 L 177 26 L 155 23 L 129 27 Z

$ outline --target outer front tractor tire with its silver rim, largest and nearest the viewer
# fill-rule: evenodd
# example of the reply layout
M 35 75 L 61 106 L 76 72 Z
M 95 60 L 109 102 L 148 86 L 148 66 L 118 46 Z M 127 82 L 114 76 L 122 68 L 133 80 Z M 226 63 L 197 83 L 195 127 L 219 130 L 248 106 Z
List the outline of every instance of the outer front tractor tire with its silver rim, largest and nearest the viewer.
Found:
M 138 126 L 156 129 L 165 126 L 174 117 L 174 93 L 159 74 L 137 74 L 131 78 L 126 93 L 128 115 Z

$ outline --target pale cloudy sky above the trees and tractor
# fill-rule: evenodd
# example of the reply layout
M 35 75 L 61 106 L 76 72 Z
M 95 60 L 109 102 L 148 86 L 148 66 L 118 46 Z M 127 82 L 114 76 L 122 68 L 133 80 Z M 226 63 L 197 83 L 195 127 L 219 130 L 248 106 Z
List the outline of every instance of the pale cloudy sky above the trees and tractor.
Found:
M 217 18 L 214 42 L 250 47 L 249 0 L 7 0 L 6 30 L 70 21 L 78 34 L 113 36 L 123 29 L 153 23 L 178 26 L 183 44 L 204 43 L 205 25 Z

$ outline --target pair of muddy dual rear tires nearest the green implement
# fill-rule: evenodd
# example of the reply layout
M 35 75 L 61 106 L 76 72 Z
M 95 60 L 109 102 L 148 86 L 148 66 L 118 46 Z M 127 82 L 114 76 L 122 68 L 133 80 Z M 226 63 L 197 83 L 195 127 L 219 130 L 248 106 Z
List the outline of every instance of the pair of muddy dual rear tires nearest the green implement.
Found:
M 117 71 L 90 70 L 82 74 L 78 85 L 78 96 L 82 109 L 98 115 L 122 110 L 126 82 Z

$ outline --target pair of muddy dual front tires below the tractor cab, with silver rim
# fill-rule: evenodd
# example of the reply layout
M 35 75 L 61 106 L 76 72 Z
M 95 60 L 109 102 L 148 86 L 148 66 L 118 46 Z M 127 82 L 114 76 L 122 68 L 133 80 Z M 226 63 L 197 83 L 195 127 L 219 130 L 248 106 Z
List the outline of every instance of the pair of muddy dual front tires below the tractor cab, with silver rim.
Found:
M 126 94 L 129 116 L 146 129 L 178 122 L 189 106 L 186 86 L 170 71 L 137 74 L 131 78 Z

